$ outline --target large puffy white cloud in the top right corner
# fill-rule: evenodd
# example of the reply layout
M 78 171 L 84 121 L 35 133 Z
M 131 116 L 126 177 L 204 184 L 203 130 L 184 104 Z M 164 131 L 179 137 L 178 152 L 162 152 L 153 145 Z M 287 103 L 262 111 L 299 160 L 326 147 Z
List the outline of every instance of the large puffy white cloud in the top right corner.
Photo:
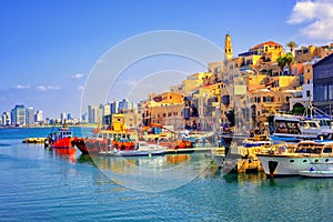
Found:
M 290 24 L 305 24 L 301 34 L 315 40 L 333 40 L 332 0 L 300 1 L 287 20 Z

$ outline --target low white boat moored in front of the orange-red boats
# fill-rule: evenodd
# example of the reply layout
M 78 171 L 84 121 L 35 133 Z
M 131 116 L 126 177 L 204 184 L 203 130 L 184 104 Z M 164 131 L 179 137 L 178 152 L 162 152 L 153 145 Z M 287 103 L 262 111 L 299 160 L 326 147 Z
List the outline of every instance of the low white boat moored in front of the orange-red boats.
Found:
M 140 157 L 140 155 L 162 155 L 167 149 L 159 144 L 149 144 L 145 141 L 138 141 L 135 149 L 132 150 L 119 150 L 112 149 L 110 151 L 101 151 L 101 155 L 113 157 Z

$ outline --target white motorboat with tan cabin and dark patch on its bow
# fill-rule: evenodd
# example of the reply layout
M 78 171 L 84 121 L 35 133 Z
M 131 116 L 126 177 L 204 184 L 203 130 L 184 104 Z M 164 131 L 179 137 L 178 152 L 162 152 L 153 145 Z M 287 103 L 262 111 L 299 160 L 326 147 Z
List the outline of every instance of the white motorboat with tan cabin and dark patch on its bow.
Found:
M 280 147 L 268 153 L 258 153 L 268 176 L 299 175 L 309 171 L 313 163 L 333 162 L 332 143 L 301 141 L 296 145 Z

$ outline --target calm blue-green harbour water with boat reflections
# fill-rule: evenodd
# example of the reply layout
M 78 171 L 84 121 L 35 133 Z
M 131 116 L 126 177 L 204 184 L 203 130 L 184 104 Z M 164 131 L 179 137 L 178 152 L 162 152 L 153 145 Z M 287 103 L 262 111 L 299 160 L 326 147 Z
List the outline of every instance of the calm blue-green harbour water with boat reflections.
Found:
M 0 221 L 333 220 L 333 179 L 223 175 L 200 153 L 91 159 L 22 143 L 50 132 L 0 129 Z

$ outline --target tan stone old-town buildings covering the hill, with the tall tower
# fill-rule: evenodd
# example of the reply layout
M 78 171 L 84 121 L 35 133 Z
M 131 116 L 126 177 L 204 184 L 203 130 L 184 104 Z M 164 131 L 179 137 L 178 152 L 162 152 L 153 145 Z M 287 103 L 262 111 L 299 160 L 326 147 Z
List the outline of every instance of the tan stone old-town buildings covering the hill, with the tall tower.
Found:
M 331 113 L 332 52 L 332 43 L 289 52 L 282 44 L 266 41 L 234 57 L 226 34 L 223 60 L 122 112 L 131 120 L 128 128 L 159 123 L 174 130 L 221 130 L 223 123 L 249 130 L 276 112 L 304 110 L 310 101 Z M 279 58 L 285 54 L 293 60 L 281 65 Z

